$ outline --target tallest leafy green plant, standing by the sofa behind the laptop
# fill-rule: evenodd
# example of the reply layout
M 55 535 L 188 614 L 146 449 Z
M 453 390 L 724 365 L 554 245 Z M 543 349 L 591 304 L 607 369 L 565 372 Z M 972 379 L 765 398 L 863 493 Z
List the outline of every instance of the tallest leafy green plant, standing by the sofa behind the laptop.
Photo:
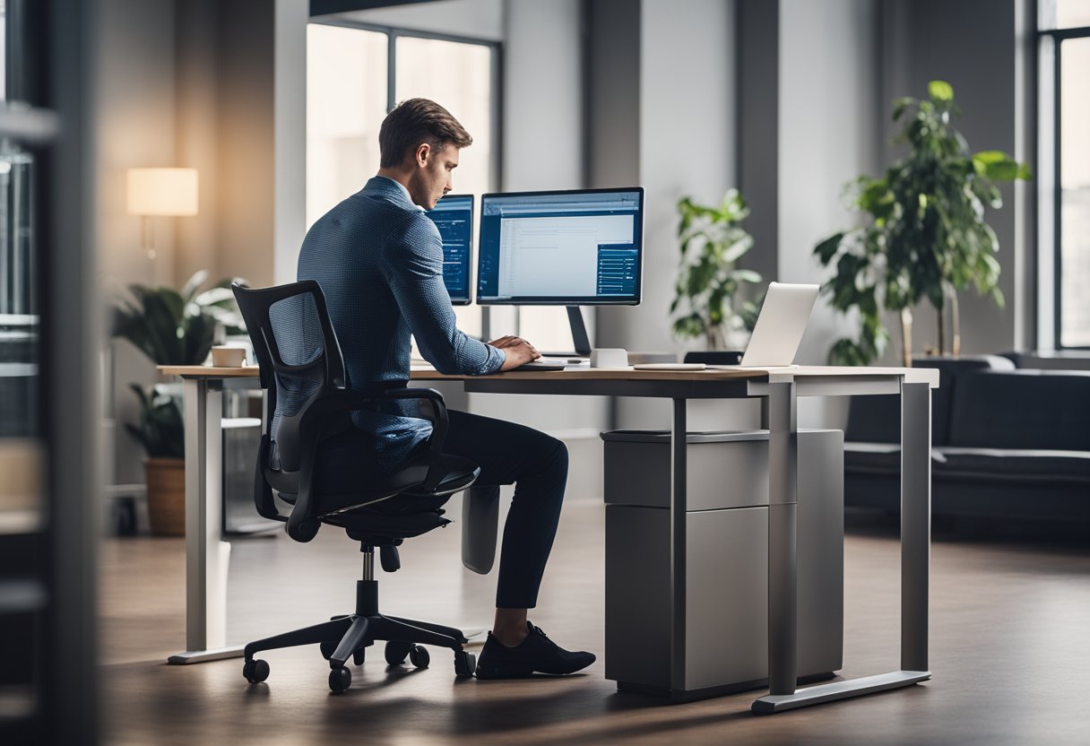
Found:
M 960 352 L 957 293 L 974 289 L 1003 305 L 998 240 L 984 220 L 984 206 L 1003 206 L 996 182 L 1029 179 L 1029 168 L 998 151 L 971 153 L 954 127 L 960 115 L 954 88 L 932 81 L 928 100 L 898 98 L 893 119 L 903 122 L 894 142 L 908 155 L 882 177 L 859 177 L 849 185 L 862 227 L 840 231 L 814 249 L 836 274 L 823 291 L 835 309 L 859 311 L 856 339 L 837 340 L 829 362 L 865 365 L 888 340 L 882 310 L 900 315 L 901 358 L 912 360 L 912 308 L 927 300 L 938 312 L 938 351 L 945 353 L 946 312 L 952 313 L 953 351 Z

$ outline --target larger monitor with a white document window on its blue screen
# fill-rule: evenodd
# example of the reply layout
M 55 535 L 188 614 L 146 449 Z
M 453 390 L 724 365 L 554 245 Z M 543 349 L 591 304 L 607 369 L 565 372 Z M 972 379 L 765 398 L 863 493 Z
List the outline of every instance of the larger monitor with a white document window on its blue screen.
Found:
M 477 303 L 640 302 L 643 188 L 485 194 Z

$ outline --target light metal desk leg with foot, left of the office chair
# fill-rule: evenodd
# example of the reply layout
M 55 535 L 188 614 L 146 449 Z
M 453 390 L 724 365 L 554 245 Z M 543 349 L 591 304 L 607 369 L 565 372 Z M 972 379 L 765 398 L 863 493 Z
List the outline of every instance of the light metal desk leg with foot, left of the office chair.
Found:
M 186 378 L 185 409 L 185 647 L 168 663 L 239 658 L 242 647 L 225 648 L 227 567 L 231 545 L 222 526 L 222 382 Z

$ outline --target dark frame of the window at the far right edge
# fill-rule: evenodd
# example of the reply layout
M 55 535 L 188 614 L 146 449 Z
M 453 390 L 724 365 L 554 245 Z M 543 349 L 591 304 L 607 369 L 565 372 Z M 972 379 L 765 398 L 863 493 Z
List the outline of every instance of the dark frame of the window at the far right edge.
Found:
M 1051 40 L 1051 60 L 1044 59 L 1044 48 L 1042 41 L 1044 39 Z M 1063 97 L 1062 97 L 1062 85 L 1063 85 L 1063 43 L 1070 39 L 1090 38 L 1090 26 L 1075 26 L 1070 28 L 1037 28 L 1036 34 L 1036 57 L 1038 63 L 1040 64 L 1042 72 L 1045 72 L 1046 63 L 1051 62 L 1051 70 L 1047 73 L 1051 74 L 1051 81 L 1042 81 L 1042 83 L 1051 84 L 1047 85 L 1051 89 L 1047 91 L 1047 96 L 1050 97 L 1047 106 L 1043 101 L 1042 93 L 1039 91 L 1037 95 L 1037 106 L 1038 106 L 1038 145 L 1037 152 L 1039 155 L 1051 156 L 1051 169 L 1052 169 L 1052 183 L 1043 184 L 1037 191 L 1037 207 L 1039 219 L 1049 220 L 1050 217 L 1046 216 L 1045 205 L 1043 204 L 1043 192 L 1049 193 L 1049 198 L 1052 202 L 1052 215 L 1051 222 L 1047 226 L 1047 231 L 1051 233 L 1047 238 L 1051 245 L 1042 245 L 1040 240 L 1041 232 L 1039 230 L 1038 250 L 1051 252 L 1051 296 L 1052 296 L 1052 349 L 1054 350 L 1090 350 L 1090 346 L 1065 346 L 1063 341 Z M 1042 85 L 1041 87 L 1045 87 Z M 1090 123 L 1088 123 L 1090 125 Z M 1051 153 L 1046 151 L 1051 148 Z M 1040 169 L 1039 169 L 1040 170 Z M 1038 266 L 1044 268 L 1046 257 L 1042 261 L 1039 256 Z M 1044 299 L 1047 302 L 1047 299 Z M 1044 309 L 1041 309 L 1044 311 Z

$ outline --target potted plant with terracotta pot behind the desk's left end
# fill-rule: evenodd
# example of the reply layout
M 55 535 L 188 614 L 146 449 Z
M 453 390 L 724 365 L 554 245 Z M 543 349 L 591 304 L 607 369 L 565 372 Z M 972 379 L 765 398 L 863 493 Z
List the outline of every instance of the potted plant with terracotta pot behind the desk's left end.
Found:
M 114 337 L 128 339 L 155 365 L 199 365 L 217 334 L 244 334 L 242 315 L 223 280 L 199 292 L 208 273 L 197 272 L 181 292 L 167 287 L 130 286 L 131 298 L 117 302 Z M 238 280 L 240 282 L 244 280 Z M 219 330 L 222 332 L 219 332 Z M 185 533 L 185 471 L 182 413 L 177 387 L 132 384 L 141 402 L 138 425 L 125 429 L 144 446 L 152 533 Z

